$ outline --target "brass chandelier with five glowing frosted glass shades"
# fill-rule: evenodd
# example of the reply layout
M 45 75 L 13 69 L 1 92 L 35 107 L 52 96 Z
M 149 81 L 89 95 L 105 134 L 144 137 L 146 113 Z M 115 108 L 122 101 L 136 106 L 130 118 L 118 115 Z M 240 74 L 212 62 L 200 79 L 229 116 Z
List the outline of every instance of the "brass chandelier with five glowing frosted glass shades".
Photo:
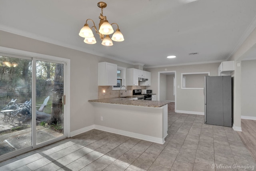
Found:
M 94 28 L 96 33 L 99 34 L 100 39 L 102 40 L 101 44 L 104 46 L 112 46 L 113 45 L 112 40 L 114 40 L 116 42 L 124 41 L 124 36 L 120 32 L 118 24 L 112 23 L 112 24 L 117 25 L 116 32 L 114 33 L 112 24 L 109 24 L 107 17 L 103 16 L 103 8 L 106 8 L 107 4 L 105 2 L 98 2 L 97 5 L 99 8 L 101 8 L 101 14 L 99 16 L 99 19 L 100 19 L 99 30 L 97 30 L 95 23 L 92 19 L 87 19 L 86 23 L 84 24 L 84 27 L 79 32 L 79 36 L 84 38 L 84 42 L 87 44 L 96 44 L 96 39 L 92 33 L 92 28 Z M 87 24 L 88 20 L 93 22 L 93 26 L 91 28 Z M 111 40 L 109 35 L 112 33 L 114 33 L 114 34 L 113 34 L 113 36 L 111 38 L 112 40 Z

